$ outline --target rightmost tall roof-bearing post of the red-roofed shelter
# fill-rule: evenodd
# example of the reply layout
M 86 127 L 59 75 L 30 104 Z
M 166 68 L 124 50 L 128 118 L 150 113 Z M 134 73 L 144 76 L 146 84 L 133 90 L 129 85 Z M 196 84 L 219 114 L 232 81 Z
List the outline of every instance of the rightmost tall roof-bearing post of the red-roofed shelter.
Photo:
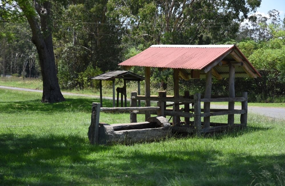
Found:
M 229 97 L 235 97 L 235 66 L 229 66 Z M 229 102 L 229 110 L 235 109 L 235 102 Z M 233 125 L 235 122 L 235 115 L 229 114 L 228 115 L 228 124 Z

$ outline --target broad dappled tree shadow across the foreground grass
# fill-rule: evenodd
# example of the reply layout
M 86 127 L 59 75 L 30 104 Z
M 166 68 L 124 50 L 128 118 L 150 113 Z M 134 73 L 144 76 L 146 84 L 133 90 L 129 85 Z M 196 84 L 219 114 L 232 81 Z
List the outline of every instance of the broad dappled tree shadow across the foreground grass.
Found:
M 165 142 L 100 146 L 77 135 L 7 133 L 0 135 L 0 185 L 246 185 L 249 170 L 271 170 L 285 158 L 223 153 Z

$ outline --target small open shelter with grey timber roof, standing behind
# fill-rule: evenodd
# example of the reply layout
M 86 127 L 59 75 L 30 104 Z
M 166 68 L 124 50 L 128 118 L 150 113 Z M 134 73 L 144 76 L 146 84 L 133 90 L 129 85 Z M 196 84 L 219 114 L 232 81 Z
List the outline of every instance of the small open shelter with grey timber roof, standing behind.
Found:
M 93 80 L 99 80 L 100 81 L 100 104 L 102 106 L 102 80 L 106 81 L 112 81 L 113 85 L 113 107 L 115 107 L 115 79 L 123 79 L 124 80 L 124 88 L 126 88 L 126 81 L 138 81 L 138 93 L 140 94 L 140 81 L 144 80 L 143 76 L 140 76 L 138 74 L 132 73 L 130 71 L 122 71 L 122 70 L 114 70 L 114 71 L 109 71 L 104 74 L 100 74 L 98 76 L 95 76 L 91 79 Z M 118 90 L 118 88 L 117 88 Z M 119 95 L 119 92 L 118 92 Z M 118 97 L 118 96 L 117 96 Z M 117 99 L 118 102 L 118 99 Z M 118 104 L 118 103 L 117 103 Z M 122 104 L 122 101 L 121 101 Z M 127 104 L 127 97 L 125 95 L 125 106 Z

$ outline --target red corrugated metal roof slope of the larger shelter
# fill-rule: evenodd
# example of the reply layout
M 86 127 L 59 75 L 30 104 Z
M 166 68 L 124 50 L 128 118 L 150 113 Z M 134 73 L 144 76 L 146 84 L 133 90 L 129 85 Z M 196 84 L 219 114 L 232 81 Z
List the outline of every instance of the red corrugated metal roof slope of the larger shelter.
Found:
M 152 45 L 119 65 L 202 70 L 234 47 L 235 45 Z

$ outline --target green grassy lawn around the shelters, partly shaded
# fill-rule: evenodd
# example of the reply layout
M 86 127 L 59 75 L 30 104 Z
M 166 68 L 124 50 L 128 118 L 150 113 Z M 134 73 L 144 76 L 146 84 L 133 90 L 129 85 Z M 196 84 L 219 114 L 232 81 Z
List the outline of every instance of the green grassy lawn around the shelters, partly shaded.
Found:
M 284 120 L 249 114 L 242 131 L 101 146 L 87 137 L 98 100 L 43 104 L 41 93 L 0 95 L 0 185 L 285 184 Z M 125 123 L 129 114 L 102 113 L 100 121 Z

